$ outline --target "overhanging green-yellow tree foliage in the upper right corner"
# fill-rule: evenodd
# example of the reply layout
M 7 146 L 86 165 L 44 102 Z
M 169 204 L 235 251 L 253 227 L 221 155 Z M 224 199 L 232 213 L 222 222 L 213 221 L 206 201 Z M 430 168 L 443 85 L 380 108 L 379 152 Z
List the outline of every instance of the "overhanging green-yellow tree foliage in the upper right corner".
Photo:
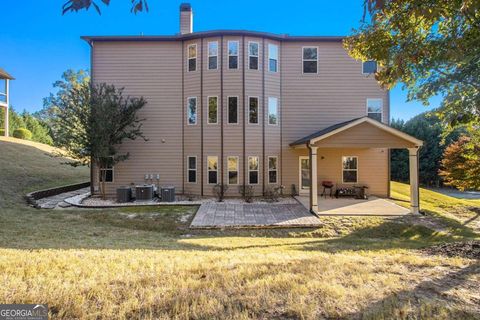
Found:
M 345 40 L 350 55 L 376 60 L 386 88 L 403 83 L 409 100 L 428 104 L 450 124 L 480 122 L 480 1 L 366 0 L 369 19 Z

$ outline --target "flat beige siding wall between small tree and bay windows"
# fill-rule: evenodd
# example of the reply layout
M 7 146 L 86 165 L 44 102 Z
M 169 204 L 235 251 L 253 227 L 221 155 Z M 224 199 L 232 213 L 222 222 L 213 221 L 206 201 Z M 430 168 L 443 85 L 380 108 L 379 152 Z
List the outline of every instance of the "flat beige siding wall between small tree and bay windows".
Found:
M 143 184 L 147 173 L 160 174 L 161 185 L 182 192 L 181 43 L 99 42 L 92 50 L 96 83 L 124 87 L 125 95 L 143 96 L 148 102 L 139 117 L 146 119 L 142 131 L 149 140 L 120 146 L 130 157 L 115 166 L 107 193 L 113 196 L 118 186 Z

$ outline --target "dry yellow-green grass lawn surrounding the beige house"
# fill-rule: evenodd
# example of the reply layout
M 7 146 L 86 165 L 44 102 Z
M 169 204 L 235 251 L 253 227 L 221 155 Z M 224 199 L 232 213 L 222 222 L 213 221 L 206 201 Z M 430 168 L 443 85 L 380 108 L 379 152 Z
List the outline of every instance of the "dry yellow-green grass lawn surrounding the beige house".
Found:
M 480 317 L 478 260 L 421 250 L 478 239 L 478 202 L 422 190 L 422 218 L 192 231 L 195 207 L 29 208 L 25 192 L 84 181 L 88 170 L 32 147 L 0 148 L 2 303 L 48 303 L 66 319 Z M 400 204 L 407 195 L 393 184 Z

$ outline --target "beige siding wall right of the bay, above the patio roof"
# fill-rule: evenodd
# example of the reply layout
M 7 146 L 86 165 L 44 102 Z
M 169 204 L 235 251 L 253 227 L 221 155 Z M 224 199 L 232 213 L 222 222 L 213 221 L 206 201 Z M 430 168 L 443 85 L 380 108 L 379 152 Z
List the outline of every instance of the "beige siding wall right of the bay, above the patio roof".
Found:
M 318 47 L 318 74 L 302 73 L 304 46 Z M 384 119 L 387 120 L 388 93 L 373 77 L 362 75 L 361 62 L 349 57 L 342 43 L 284 42 L 279 63 L 282 71 L 282 175 L 288 191 L 291 184 L 298 187 L 298 155 L 302 153 L 292 150 L 291 142 L 333 124 L 366 116 L 367 98 L 383 99 Z M 382 167 L 387 168 L 388 158 L 383 154 Z M 387 181 L 378 181 L 380 183 L 386 188 Z

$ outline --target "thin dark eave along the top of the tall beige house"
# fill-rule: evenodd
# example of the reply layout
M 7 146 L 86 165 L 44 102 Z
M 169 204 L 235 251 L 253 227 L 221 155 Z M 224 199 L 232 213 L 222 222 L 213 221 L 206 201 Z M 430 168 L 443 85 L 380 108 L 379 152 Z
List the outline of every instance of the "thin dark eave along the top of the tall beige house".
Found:
M 320 41 L 320 42 L 341 42 L 342 36 L 289 36 L 288 34 L 274 34 L 268 32 L 247 31 L 247 30 L 213 30 L 192 32 L 187 34 L 163 35 L 163 36 L 82 36 L 88 42 L 94 41 L 181 41 L 203 37 L 218 36 L 251 36 L 265 37 L 278 41 Z

